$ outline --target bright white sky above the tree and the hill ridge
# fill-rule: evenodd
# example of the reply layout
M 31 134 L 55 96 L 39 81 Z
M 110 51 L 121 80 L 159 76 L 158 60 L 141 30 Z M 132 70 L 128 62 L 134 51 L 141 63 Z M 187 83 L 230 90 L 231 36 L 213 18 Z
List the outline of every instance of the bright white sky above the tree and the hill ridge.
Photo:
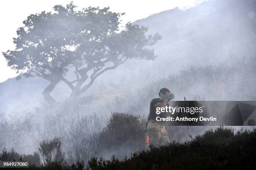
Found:
M 170 10 L 175 7 L 182 9 L 194 6 L 203 0 L 73 0 L 74 5 L 82 7 L 110 7 L 111 11 L 125 13 L 123 23 L 146 18 L 151 14 Z M 5 0 L 1 2 L 0 16 L 0 82 L 17 76 L 15 70 L 7 66 L 2 52 L 14 50 L 13 37 L 16 30 L 23 26 L 28 15 L 52 11 L 54 5 L 67 5 L 70 0 Z

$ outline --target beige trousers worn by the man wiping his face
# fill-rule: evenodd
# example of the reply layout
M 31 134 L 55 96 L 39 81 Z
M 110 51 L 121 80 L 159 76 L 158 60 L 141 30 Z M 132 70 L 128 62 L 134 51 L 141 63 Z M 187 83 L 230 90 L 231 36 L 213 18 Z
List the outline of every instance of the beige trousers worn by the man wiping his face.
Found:
M 149 146 L 158 147 L 161 145 L 169 145 L 170 139 L 165 127 L 160 122 L 148 120 L 146 127 L 146 150 Z

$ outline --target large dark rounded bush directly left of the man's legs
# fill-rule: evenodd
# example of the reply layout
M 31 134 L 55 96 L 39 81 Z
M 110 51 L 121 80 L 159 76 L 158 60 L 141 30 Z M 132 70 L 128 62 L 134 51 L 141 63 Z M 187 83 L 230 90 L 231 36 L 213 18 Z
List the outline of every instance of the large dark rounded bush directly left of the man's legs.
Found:
M 114 112 L 107 126 L 99 133 L 99 152 L 119 158 L 145 147 L 146 120 L 141 116 Z M 110 152 L 111 151 L 111 152 Z

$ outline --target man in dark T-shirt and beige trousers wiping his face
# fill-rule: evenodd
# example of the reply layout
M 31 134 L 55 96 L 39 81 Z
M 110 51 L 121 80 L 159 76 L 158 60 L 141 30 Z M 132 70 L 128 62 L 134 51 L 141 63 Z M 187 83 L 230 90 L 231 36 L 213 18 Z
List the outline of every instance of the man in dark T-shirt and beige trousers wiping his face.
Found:
M 154 98 L 150 102 L 150 109 L 148 115 L 148 122 L 146 124 L 146 150 L 150 146 L 158 147 L 161 145 L 168 145 L 170 143 L 169 136 L 165 130 L 163 122 L 156 121 L 156 117 L 166 117 L 166 112 L 156 114 L 156 107 L 169 106 L 168 101 L 174 99 L 174 95 L 167 88 L 162 88 L 159 91 L 159 98 Z

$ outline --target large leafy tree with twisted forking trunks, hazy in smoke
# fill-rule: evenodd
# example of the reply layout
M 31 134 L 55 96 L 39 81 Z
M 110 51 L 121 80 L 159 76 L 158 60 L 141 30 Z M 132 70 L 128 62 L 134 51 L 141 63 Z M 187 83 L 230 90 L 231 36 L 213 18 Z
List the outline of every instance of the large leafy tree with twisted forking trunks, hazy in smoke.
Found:
M 15 50 L 3 55 L 18 74 L 50 82 L 43 92 L 49 104 L 56 102 L 50 92 L 60 81 L 72 90 L 69 98 L 76 99 L 103 72 L 128 59 L 156 57 L 148 47 L 161 36 L 146 35 L 148 28 L 131 23 L 120 30 L 122 15 L 111 12 L 109 7 L 76 10 L 73 2 L 66 7 L 55 5 L 53 13 L 29 15 L 24 26 L 18 28 L 18 37 L 13 38 Z M 74 71 L 73 80 L 67 79 L 69 71 Z

